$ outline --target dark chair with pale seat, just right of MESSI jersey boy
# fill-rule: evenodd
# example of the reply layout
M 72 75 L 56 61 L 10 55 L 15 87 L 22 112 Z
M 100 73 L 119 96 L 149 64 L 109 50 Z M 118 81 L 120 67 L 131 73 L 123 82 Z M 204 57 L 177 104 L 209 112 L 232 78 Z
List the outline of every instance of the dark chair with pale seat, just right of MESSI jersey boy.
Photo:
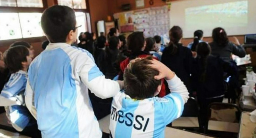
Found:
M 176 119 L 172 126 L 189 130 L 199 130 L 201 128 L 199 106 L 193 97 L 189 98 L 184 105 L 182 116 Z

